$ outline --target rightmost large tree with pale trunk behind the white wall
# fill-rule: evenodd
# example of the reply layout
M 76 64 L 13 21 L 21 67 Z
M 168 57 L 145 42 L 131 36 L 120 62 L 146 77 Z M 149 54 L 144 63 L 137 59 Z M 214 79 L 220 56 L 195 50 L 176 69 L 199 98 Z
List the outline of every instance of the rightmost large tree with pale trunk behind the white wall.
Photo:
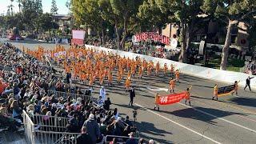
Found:
M 202 10 L 207 14 L 213 14 L 219 20 L 226 23 L 226 40 L 222 49 L 221 70 L 226 70 L 229 49 L 231 45 L 231 30 L 244 22 L 246 18 L 252 18 L 256 13 L 256 1 L 254 0 L 204 0 Z

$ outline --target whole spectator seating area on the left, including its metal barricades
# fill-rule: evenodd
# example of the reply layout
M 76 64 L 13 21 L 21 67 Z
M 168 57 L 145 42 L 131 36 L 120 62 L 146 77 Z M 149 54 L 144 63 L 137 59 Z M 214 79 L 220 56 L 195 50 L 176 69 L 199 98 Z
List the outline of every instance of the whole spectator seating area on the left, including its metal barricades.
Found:
M 82 126 L 93 143 L 125 143 L 129 134 L 135 136 L 129 117 L 119 117 L 117 108 L 98 106 L 60 73 L 9 43 L 2 46 L 1 126 L 14 131 L 24 126 L 31 143 L 79 143 Z

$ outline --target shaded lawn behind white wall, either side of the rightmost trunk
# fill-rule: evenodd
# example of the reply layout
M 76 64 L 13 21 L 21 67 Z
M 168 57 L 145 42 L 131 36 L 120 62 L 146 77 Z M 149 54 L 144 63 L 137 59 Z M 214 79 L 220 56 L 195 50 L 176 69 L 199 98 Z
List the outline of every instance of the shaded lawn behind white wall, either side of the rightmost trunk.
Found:
M 219 69 L 222 58 L 218 55 L 213 55 L 206 67 Z M 240 68 L 245 65 L 244 61 L 237 58 L 228 58 L 226 70 L 240 72 Z

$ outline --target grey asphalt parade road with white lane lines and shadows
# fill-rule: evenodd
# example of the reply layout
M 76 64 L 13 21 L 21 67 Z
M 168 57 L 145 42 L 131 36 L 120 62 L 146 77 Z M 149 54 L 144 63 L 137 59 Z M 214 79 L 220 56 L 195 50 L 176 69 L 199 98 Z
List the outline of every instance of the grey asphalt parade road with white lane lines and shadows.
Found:
M 29 42 L 16 43 L 16 46 L 25 45 L 34 47 Z M 40 43 L 41 46 L 54 47 L 52 44 Z M 154 73 L 153 73 L 154 74 Z M 125 92 L 124 81 L 122 85 L 114 82 L 114 86 L 106 85 L 107 96 L 110 97 L 111 107 L 117 107 L 122 117 L 138 110 L 136 126 L 138 131 L 146 138 L 153 138 L 161 143 L 256 143 L 256 96 L 239 88 L 238 96 L 229 95 L 211 100 L 213 86 L 226 86 L 228 84 L 214 82 L 190 75 L 181 74 L 181 83 L 177 83 L 176 92 L 191 89 L 191 105 L 184 105 L 184 101 L 170 106 L 160 106 L 160 111 L 154 110 L 154 94 L 149 90 L 168 89 L 169 76 L 150 76 L 138 79 L 132 78 L 135 86 L 135 106 L 128 106 L 129 94 Z M 115 79 L 115 78 L 114 78 Z M 83 86 L 82 87 L 87 87 Z M 97 95 L 99 86 L 94 93 Z M 159 94 L 170 92 L 158 91 Z

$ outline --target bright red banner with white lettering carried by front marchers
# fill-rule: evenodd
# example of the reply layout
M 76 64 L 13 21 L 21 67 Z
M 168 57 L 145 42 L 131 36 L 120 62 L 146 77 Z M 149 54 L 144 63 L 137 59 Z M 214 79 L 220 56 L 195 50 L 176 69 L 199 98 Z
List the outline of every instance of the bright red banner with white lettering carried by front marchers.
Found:
M 186 92 L 182 92 L 179 94 L 169 94 L 166 96 L 159 96 L 158 104 L 159 105 L 170 105 L 173 103 L 180 102 L 185 97 L 186 97 Z

